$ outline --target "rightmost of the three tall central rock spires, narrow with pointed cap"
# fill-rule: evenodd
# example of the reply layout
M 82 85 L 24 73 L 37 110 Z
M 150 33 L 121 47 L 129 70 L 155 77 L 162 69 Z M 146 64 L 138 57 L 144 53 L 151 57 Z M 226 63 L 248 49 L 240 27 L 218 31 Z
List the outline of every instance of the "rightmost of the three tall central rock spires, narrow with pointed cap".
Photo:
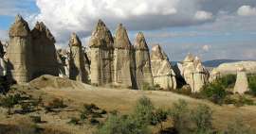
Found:
M 150 53 L 147 42 L 143 33 L 137 34 L 135 42 L 135 59 L 136 59 L 136 79 L 137 88 L 141 89 L 143 84 L 154 85 L 153 75 L 151 70 Z

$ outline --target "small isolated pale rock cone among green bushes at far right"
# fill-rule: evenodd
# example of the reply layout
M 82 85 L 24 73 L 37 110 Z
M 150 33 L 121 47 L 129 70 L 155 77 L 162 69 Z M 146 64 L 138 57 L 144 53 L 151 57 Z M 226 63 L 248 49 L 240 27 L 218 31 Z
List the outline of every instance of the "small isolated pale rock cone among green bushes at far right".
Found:
M 247 79 L 247 73 L 246 69 L 241 66 L 237 69 L 237 77 L 236 82 L 234 86 L 234 93 L 244 94 L 245 92 L 248 92 L 248 79 Z

